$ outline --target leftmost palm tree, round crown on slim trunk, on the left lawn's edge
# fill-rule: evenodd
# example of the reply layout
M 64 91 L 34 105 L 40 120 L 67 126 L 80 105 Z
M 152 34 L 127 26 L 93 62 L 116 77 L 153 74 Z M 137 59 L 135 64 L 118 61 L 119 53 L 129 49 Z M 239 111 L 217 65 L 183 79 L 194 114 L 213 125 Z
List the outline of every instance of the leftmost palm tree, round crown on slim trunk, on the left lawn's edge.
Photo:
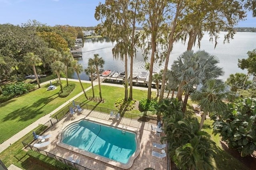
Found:
M 26 53 L 26 55 L 24 56 L 24 61 L 27 65 L 33 67 L 34 75 L 36 76 L 36 82 L 38 84 L 38 87 L 40 88 L 41 86 L 36 73 L 36 65 L 40 64 L 42 62 L 42 59 L 40 59 L 38 55 L 35 55 L 34 53 L 30 52 Z

